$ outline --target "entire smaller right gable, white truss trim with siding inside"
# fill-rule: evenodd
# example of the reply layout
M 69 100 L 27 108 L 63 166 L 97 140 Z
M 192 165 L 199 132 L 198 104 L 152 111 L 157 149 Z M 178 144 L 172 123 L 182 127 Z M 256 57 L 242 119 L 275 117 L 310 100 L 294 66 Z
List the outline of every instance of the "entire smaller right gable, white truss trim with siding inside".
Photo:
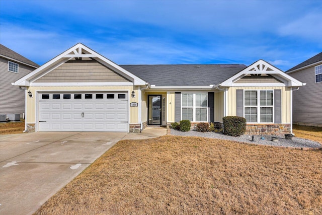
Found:
M 269 86 L 286 86 L 300 87 L 305 86 L 291 76 L 285 74 L 280 69 L 266 62 L 258 60 L 236 75 L 222 82 L 218 86 L 222 87 L 269 87 Z M 216 87 L 216 86 L 215 86 Z

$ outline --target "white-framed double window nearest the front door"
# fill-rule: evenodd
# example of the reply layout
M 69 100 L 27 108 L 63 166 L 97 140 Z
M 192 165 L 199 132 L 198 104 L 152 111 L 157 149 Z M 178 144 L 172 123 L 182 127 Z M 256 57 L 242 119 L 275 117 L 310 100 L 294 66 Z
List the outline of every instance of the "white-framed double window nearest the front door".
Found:
M 182 120 L 207 121 L 207 93 L 182 94 Z

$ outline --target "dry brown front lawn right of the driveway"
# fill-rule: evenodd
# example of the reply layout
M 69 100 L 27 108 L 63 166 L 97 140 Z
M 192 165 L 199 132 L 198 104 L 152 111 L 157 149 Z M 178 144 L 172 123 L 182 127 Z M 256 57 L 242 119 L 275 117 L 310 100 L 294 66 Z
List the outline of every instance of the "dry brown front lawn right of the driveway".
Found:
M 322 214 L 322 151 L 122 140 L 36 214 Z

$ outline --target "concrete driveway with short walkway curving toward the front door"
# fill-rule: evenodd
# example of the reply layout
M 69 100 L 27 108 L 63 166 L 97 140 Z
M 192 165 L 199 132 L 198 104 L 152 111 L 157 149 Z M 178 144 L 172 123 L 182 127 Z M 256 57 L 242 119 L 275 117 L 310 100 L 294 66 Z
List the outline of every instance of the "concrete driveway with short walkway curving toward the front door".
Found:
M 46 200 L 121 139 L 153 138 L 142 133 L 36 132 L 0 135 L 0 214 L 32 214 Z

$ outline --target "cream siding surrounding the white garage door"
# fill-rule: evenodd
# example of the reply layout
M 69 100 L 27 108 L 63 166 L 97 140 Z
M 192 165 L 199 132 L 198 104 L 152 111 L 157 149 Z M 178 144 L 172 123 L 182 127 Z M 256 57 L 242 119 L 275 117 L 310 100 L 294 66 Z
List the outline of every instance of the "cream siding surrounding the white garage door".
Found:
M 36 96 L 36 91 L 46 91 L 46 92 L 55 92 L 55 91 L 60 91 L 60 92 L 70 92 L 70 91 L 84 91 L 84 92 L 90 92 L 90 91 L 96 91 L 96 92 L 101 92 L 101 91 L 125 91 L 129 92 L 129 103 L 131 102 L 137 102 L 138 103 L 138 96 L 135 96 L 135 98 L 131 97 L 131 92 L 134 90 L 135 95 L 138 95 L 138 90 L 133 89 L 133 86 L 87 86 L 87 87 L 29 87 L 28 90 L 33 94 L 33 98 L 27 98 L 27 117 L 26 117 L 26 122 L 27 123 L 35 123 L 36 122 L 36 108 L 37 105 L 37 96 Z M 138 121 L 138 107 L 129 107 L 129 114 L 130 114 L 130 121 L 129 123 L 135 124 L 139 123 Z

